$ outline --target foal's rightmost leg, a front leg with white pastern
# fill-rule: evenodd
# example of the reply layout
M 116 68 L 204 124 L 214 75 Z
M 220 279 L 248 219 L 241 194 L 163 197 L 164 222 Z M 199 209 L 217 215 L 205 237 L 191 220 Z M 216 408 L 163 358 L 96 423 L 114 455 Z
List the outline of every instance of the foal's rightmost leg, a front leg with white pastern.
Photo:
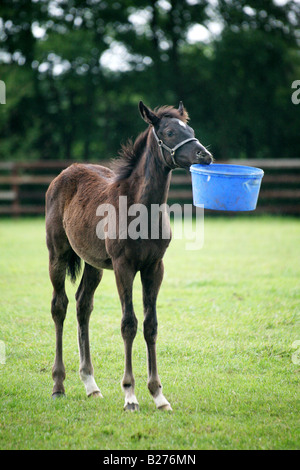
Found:
M 172 411 L 171 405 L 162 393 L 162 384 L 157 372 L 156 337 L 157 316 L 156 299 L 163 279 L 162 260 L 141 271 L 144 301 L 144 337 L 148 352 L 148 389 L 160 410 Z

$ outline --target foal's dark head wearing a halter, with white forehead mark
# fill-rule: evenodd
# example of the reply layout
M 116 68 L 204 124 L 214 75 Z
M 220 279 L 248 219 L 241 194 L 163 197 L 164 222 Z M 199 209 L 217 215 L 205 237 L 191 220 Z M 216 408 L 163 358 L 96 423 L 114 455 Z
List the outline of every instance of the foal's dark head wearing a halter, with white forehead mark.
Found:
M 213 161 L 211 153 L 187 124 L 188 114 L 182 102 L 178 109 L 163 107 L 154 112 L 140 101 L 139 109 L 144 121 L 153 127 L 162 160 L 169 168 L 188 169 L 194 163 L 209 165 Z

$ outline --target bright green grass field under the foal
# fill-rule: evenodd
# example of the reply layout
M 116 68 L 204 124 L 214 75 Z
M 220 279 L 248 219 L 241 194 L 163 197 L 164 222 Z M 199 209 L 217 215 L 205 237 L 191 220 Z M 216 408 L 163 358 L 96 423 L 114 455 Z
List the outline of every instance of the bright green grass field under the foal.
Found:
M 95 296 L 91 349 L 103 400 L 78 374 L 75 286 L 65 322 L 67 397 L 51 400 L 54 324 L 41 219 L 0 221 L 1 449 L 297 449 L 300 222 L 205 219 L 202 250 L 173 240 L 158 299 L 158 366 L 173 413 L 147 390 L 140 280 L 134 372 L 139 413 L 123 412 L 123 342 L 113 273 Z M 294 361 L 298 362 L 298 361 Z

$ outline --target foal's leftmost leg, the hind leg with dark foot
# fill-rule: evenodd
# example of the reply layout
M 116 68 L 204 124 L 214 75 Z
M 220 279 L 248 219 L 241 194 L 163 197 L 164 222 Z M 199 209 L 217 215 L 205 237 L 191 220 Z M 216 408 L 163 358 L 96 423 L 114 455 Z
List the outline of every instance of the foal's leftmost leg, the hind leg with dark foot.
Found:
M 57 257 L 50 254 L 49 274 L 53 284 L 51 313 L 55 323 L 56 333 L 55 361 L 52 368 L 52 377 L 54 380 L 52 392 L 53 398 L 64 395 L 65 393 L 63 382 L 65 380 L 66 373 L 62 355 L 62 337 L 63 324 L 68 306 L 68 298 L 65 292 L 66 267 L 67 262 L 65 257 Z

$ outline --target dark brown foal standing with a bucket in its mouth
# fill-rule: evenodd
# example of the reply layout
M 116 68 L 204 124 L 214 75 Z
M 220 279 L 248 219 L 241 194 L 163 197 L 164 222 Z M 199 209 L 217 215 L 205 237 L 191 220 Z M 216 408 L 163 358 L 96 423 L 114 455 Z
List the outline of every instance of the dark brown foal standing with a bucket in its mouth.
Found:
M 113 269 L 122 306 L 121 333 L 125 348 L 125 371 L 122 388 L 125 410 L 138 410 L 132 372 L 132 344 L 137 332 L 137 318 L 132 305 L 132 286 L 140 271 L 143 286 L 144 337 L 148 356 L 148 388 L 159 409 L 171 410 L 162 393 L 156 365 L 156 299 L 163 278 L 162 258 L 171 235 L 158 239 L 121 237 L 118 226 L 112 238 L 97 231 L 97 208 L 111 204 L 119 220 L 120 196 L 127 197 L 128 207 L 140 203 L 151 213 L 152 204 L 167 201 L 174 168 L 188 169 L 193 163 L 209 164 L 211 154 L 195 138 L 187 125 L 188 115 L 179 108 L 162 107 L 151 111 L 139 103 L 142 118 L 149 124 L 136 139 L 123 147 L 115 172 L 100 165 L 74 164 L 61 172 L 46 194 L 46 239 L 49 250 L 49 273 L 53 284 L 51 304 L 56 330 L 56 354 L 52 369 L 53 397 L 65 393 L 65 367 L 62 357 L 63 324 L 68 299 L 66 273 L 75 281 L 84 260 L 84 272 L 78 290 L 77 320 L 80 354 L 80 377 L 88 396 L 102 397 L 95 382 L 89 347 L 89 319 L 94 292 L 103 269 Z M 120 214 L 122 215 L 122 214 Z M 160 223 L 169 223 L 166 211 Z M 151 220 L 150 220 L 151 223 Z

